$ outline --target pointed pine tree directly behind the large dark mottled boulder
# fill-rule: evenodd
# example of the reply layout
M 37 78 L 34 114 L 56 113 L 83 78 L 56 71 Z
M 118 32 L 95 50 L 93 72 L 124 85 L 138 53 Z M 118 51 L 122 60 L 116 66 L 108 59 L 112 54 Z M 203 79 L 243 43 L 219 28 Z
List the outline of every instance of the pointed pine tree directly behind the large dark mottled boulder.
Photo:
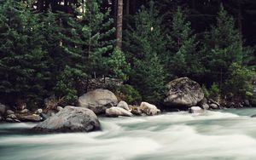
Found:
M 191 77 L 198 80 L 204 72 L 200 54 L 197 53 L 195 34 L 180 7 L 172 15 L 171 31 L 168 32 L 166 66 L 170 78 Z

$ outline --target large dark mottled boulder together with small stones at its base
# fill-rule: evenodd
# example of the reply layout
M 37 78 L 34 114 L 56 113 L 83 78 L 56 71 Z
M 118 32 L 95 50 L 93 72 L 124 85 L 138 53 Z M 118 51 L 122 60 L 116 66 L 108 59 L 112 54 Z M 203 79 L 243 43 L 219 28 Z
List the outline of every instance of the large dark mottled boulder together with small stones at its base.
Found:
M 181 77 L 167 84 L 166 106 L 188 110 L 190 113 L 202 113 L 204 110 L 220 109 L 218 102 L 204 97 L 199 83 Z

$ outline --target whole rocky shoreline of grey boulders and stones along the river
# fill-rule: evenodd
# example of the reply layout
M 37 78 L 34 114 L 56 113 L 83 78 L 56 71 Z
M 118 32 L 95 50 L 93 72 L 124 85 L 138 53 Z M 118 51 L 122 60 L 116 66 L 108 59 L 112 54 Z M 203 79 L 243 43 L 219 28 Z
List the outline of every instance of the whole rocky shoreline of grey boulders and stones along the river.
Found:
M 154 116 L 161 111 L 180 110 L 201 114 L 206 110 L 225 108 L 217 101 L 207 99 L 201 86 L 188 77 L 173 80 L 167 84 L 167 89 L 164 107 L 148 102 L 132 106 L 124 100 L 118 100 L 108 89 L 95 89 L 83 94 L 79 97 L 78 106 L 56 106 L 55 109 L 44 110 L 39 108 L 36 111 L 29 111 L 23 106 L 14 111 L 11 107 L 0 104 L 0 122 L 40 122 L 33 128 L 40 132 L 90 132 L 101 129 L 98 116 Z

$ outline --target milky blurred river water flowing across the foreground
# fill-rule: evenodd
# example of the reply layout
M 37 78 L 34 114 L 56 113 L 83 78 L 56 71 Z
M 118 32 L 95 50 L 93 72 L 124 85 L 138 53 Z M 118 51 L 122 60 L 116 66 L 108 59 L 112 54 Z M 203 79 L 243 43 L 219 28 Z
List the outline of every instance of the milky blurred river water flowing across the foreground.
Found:
M 33 134 L 36 123 L 0 124 L 1 160 L 253 160 L 256 109 L 100 118 L 102 131 Z

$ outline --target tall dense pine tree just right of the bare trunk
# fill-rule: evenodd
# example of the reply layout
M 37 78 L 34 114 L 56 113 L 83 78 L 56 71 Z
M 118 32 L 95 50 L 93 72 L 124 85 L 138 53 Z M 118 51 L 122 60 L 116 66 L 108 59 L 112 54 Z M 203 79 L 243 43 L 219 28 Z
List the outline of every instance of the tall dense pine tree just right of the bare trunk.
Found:
M 132 61 L 130 81 L 142 94 L 143 100 L 160 102 L 164 93 L 165 73 L 159 55 L 164 44 L 154 6 L 142 8 L 135 15 L 135 27 L 130 30 L 127 51 Z M 160 45 L 158 45 L 160 44 Z

